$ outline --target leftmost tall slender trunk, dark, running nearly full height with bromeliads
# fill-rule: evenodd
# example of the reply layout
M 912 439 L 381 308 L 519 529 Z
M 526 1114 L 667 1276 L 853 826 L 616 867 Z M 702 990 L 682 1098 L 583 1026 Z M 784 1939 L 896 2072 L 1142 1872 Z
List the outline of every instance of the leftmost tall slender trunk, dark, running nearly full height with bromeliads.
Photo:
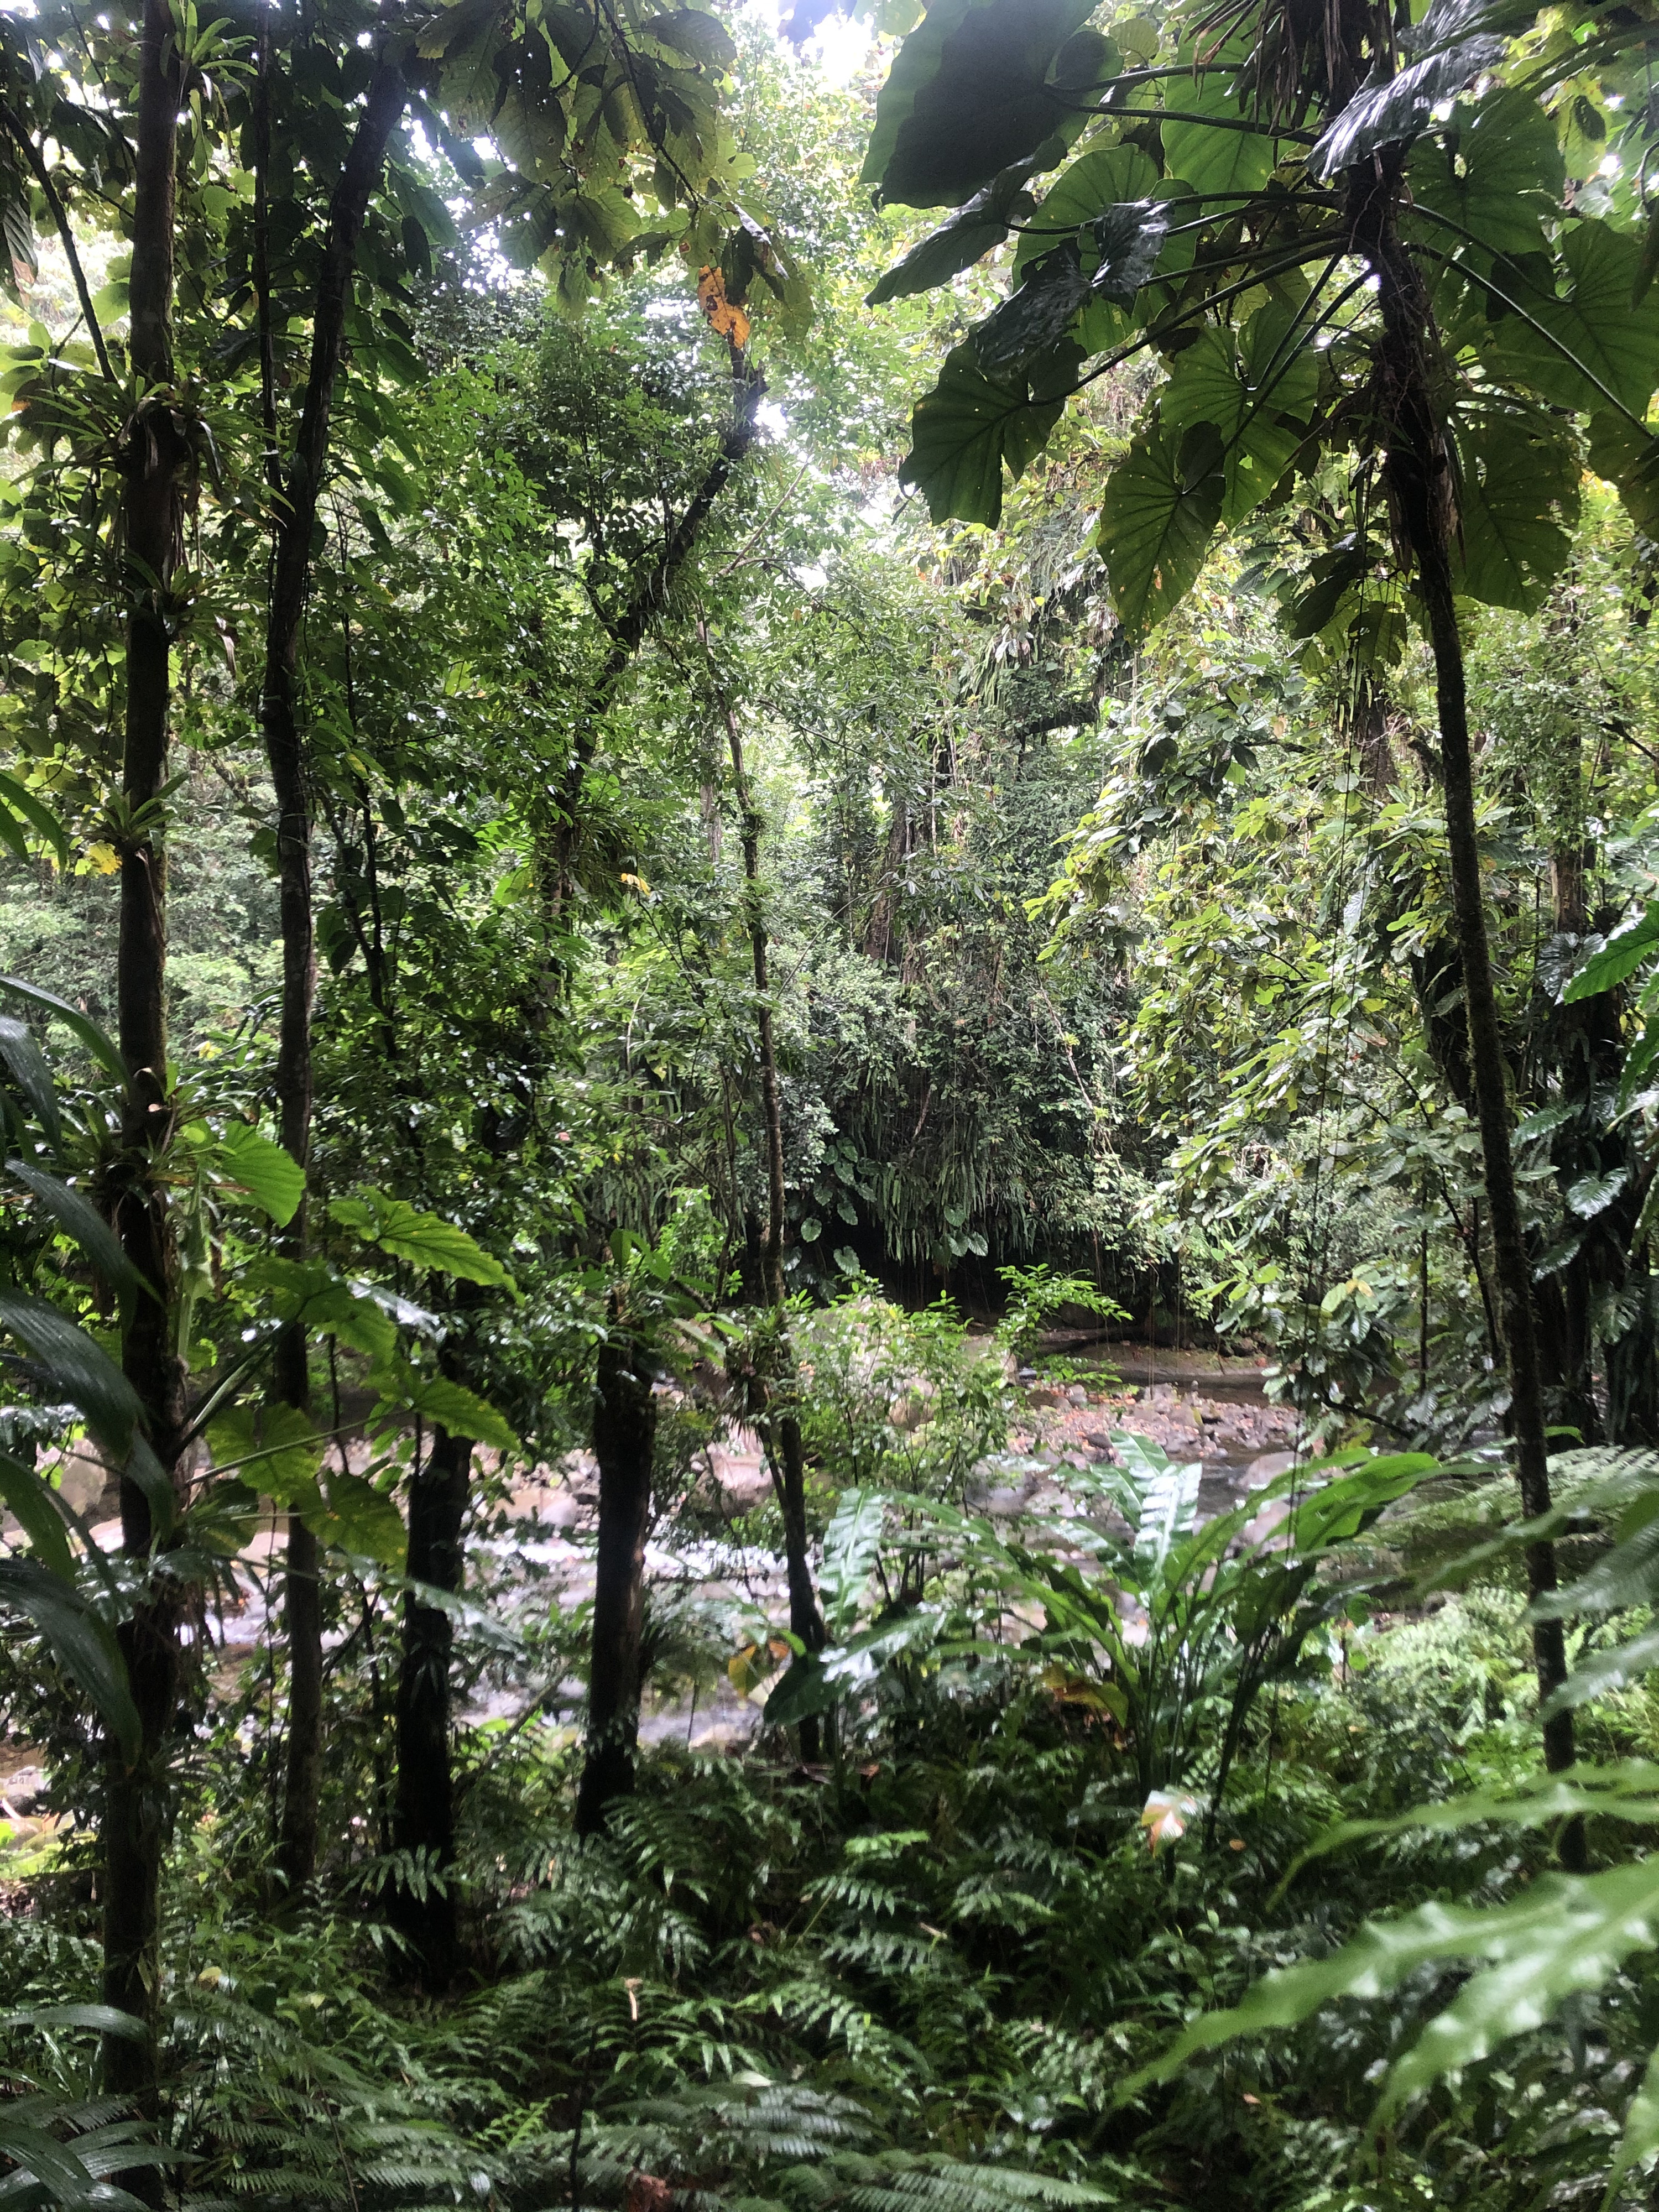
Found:
M 166 1066 L 166 838 L 157 818 L 168 770 L 170 611 L 181 542 L 188 442 L 173 396 L 173 206 L 179 64 L 166 0 L 146 0 L 139 42 L 137 184 L 128 358 L 137 385 L 124 471 L 126 730 L 122 796 L 133 825 L 122 852 L 117 1026 L 128 1088 L 122 1113 L 117 1230 L 157 1298 L 133 1301 L 122 1369 L 144 1409 L 148 1442 L 173 1475 L 186 1433 L 184 1360 L 175 1345 L 177 1250 L 157 1164 L 173 1135 Z M 122 1540 L 150 1551 L 144 1491 L 122 1475 Z M 168 1736 L 179 1686 L 179 1624 L 170 1595 L 146 1593 L 119 1628 L 142 1719 L 137 1765 L 108 1763 L 104 1798 L 104 2002 L 148 2026 L 144 2042 L 104 2037 L 104 2081 L 139 2110 L 157 2099 L 159 1891 L 168 1825 Z M 126 2177 L 157 2201 L 148 2168 Z

